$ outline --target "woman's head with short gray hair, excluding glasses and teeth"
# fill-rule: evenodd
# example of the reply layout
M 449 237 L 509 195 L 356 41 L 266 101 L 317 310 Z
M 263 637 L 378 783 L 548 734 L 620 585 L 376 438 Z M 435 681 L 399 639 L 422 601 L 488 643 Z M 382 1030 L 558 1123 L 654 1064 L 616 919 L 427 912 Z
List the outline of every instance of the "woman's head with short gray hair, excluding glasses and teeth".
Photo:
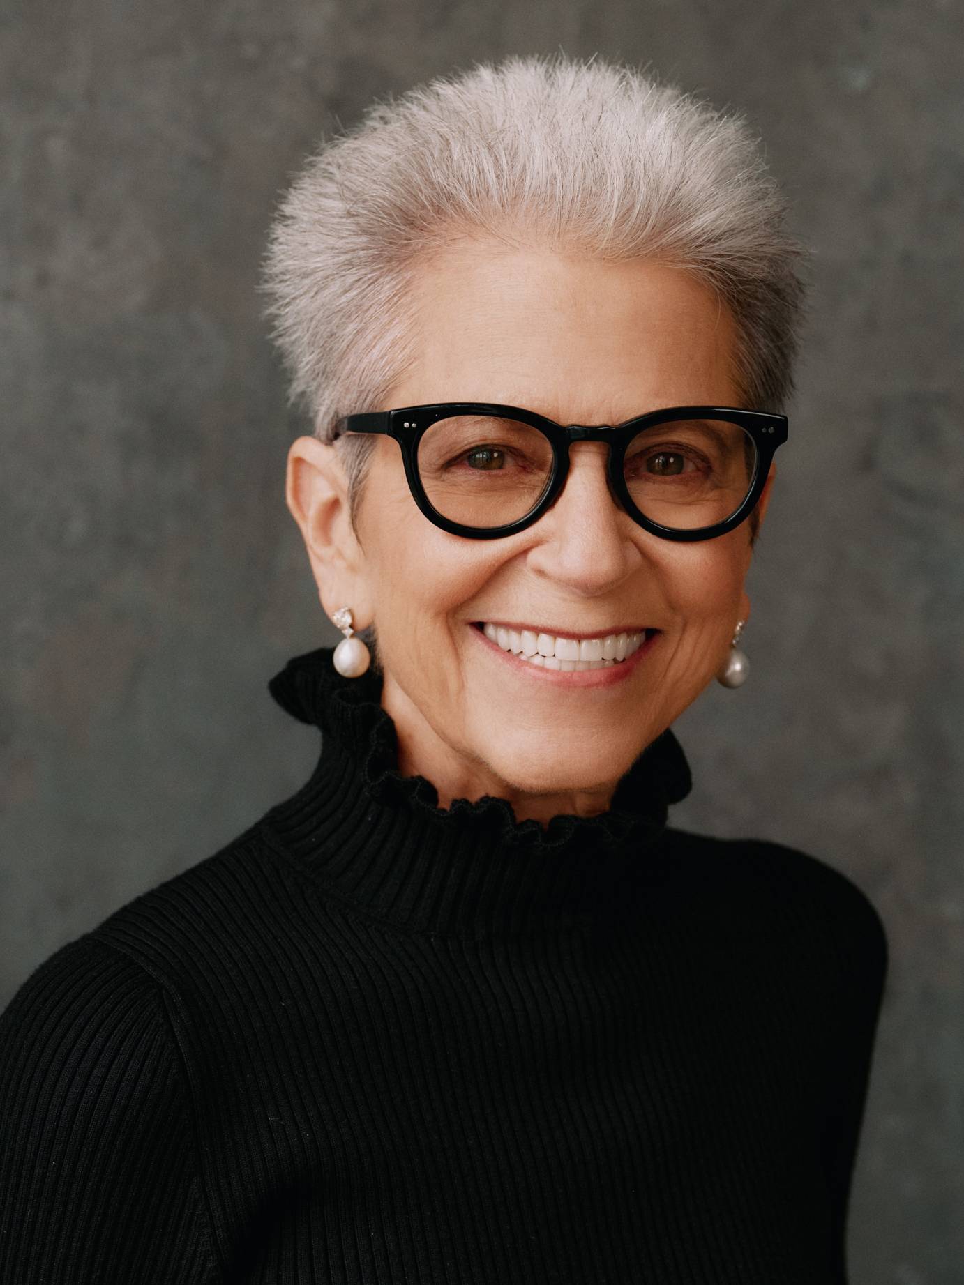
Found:
M 604 443 L 577 442 L 536 523 L 467 540 L 415 506 L 396 442 L 333 441 L 337 420 L 437 401 L 563 424 L 701 403 L 779 411 L 801 294 L 781 222 L 738 120 L 564 59 L 479 67 L 377 107 L 284 198 L 267 287 L 314 423 L 289 452 L 288 504 L 323 608 L 350 605 L 375 641 L 402 767 L 443 799 L 605 806 L 749 617 L 774 470 L 743 526 L 680 544 L 620 509 Z M 485 623 L 649 641 L 604 682 L 608 669 L 533 673 Z

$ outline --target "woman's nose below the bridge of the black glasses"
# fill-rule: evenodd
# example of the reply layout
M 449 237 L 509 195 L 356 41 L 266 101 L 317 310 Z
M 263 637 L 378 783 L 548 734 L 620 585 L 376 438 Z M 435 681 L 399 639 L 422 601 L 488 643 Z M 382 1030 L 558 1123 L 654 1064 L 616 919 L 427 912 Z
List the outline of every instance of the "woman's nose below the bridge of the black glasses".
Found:
M 530 567 L 581 598 L 616 589 L 641 562 L 635 523 L 609 491 L 605 442 L 569 447 L 566 486 L 530 528 Z

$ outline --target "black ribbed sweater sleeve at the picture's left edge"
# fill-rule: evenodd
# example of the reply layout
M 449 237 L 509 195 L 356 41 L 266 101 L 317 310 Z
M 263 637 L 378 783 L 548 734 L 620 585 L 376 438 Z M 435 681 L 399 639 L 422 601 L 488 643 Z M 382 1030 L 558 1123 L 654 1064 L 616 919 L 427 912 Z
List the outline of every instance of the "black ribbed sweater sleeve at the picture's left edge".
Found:
M 183 1065 L 154 980 L 91 937 L 0 1016 L 0 1280 L 219 1281 Z

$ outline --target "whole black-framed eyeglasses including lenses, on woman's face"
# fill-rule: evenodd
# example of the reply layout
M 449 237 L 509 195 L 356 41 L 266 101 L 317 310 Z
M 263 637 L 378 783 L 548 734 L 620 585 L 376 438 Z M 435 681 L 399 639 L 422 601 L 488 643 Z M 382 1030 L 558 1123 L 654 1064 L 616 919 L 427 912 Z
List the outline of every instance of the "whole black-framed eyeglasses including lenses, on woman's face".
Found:
M 518 406 L 436 402 L 346 415 L 341 433 L 401 447 L 409 490 L 442 531 L 495 540 L 524 531 L 566 486 L 572 442 L 607 442 L 609 490 L 662 540 L 712 540 L 753 510 L 787 416 L 672 406 L 622 424 L 563 427 Z

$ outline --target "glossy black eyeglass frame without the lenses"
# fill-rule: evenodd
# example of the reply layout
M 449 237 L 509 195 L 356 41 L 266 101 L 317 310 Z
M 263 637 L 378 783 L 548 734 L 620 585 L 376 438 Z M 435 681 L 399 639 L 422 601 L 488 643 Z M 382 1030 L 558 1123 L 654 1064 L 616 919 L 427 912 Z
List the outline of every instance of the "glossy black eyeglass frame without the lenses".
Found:
M 549 474 L 542 495 L 527 514 L 517 518 L 515 522 L 505 523 L 501 527 L 468 527 L 464 523 L 446 518 L 433 508 L 418 469 L 418 446 L 424 434 L 440 419 L 452 419 L 458 415 L 492 415 L 503 419 L 514 419 L 521 424 L 539 429 L 549 441 L 553 448 L 553 468 Z M 653 522 L 634 504 L 622 474 L 622 461 L 626 455 L 626 445 L 643 428 L 650 424 L 671 424 L 680 419 L 724 419 L 729 423 L 739 424 L 753 438 L 756 446 L 756 473 L 747 491 L 743 504 L 729 518 L 710 527 L 693 527 L 692 529 L 665 527 Z M 560 495 L 569 474 L 569 447 L 573 442 L 607 442 L 609 452 L 607 457 L 607 479 L 611 493 L 632 520 L 658 536 L 661 540 L 697 541 L 713 540 L 733 531 L 745 522 L 756 508 L 766 484 L 774 455 L 778 447 L 783 446 L 788 437 L 788 419 L 771 411 L 744 410 L 735 406 L 666 406 L 659 410 L 647 411 L 644 415 L 634 415 L 632 419 L 622 420 L 620 424 L 559 424 L 537 411 L 526 410 L 523 406 L 508 406 L 501 402 L 427 402 L 419 406 L 401 406 L 383 411 L 360 411 L 351 415 L 342 415 L 335 424 L 335 438 L 343 433 L 380 434 L 393 438 L 402 452 L 405 477 L 409 483 L 411 497 L 429 522 L 442 531 L 454 536 L 464 536 L 468 540 L 499 540 L 505 536 L 514 536 L 519 531 L 533 526 L 542 514 L 551 508 Z M 414 432 L 413 432 L 414 429 Z

